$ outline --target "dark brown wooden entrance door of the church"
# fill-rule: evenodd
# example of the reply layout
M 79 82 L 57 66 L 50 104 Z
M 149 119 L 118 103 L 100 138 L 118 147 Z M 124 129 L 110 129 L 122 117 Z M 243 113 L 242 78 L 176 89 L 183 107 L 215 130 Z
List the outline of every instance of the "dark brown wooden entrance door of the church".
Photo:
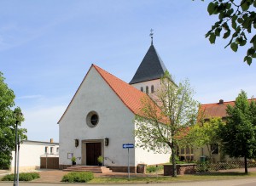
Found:
M 97 158 L 102 155 L 102 143 L 86 143 L 86 165 L 97 166 Z

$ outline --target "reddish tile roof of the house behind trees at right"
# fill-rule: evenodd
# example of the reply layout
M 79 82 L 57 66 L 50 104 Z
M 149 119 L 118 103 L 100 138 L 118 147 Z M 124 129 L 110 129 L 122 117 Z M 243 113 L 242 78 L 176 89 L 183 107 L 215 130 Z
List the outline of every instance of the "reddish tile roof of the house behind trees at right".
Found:
M 256 99 L 248 99 L 248 101 L 255 100 Z M 235 101 L 228 101 L 223 102 L 223 104 L 201 104 L 201 111 L 203 112 L 203 115 L 205 116 L 205 119 L 209 119 L 212 117 L 226 117 L 227 116 L 227 105 L 230 104 L 231 106 L 235 105 Z

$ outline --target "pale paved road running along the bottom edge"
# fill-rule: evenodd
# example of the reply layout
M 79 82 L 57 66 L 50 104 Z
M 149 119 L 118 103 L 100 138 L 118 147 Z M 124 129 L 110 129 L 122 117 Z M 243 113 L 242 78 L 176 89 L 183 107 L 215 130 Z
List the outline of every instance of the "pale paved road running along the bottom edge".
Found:
M 82 183 L 84 184 L 84 183 Z M 78 186 L 81 183 L 67 184 L 67 183 L 20 183 L 20 186 Z M 86 184 L 93 186 L 110 186 L 113 184 Z M 114 186 L 121 185 L 134 185 L 134 184 L 114 184 Z M 145 183 L 137 184 L 139 186 L 157 185 L 157 186 L 255 186 L 256 178 L 244 178 L 244 179 L 233 179 L 233 180 L 221 180 L 221 181 L 203 181 L 203 182 L 187 182 L 187 183 Z M 13 183 L 0 183 L 0 186 L 13 186 Z

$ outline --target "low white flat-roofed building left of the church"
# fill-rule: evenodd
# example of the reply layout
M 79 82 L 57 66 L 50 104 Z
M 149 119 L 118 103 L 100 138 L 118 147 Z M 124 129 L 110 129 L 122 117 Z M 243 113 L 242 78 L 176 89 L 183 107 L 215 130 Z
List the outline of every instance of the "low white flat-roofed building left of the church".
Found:
M 25 140 L 20 144 L 19 170 L 31 171 L 40 168 L 41 157 L 58 157 L 59 143 Z M 12 152 L 11 171 L 15 170 L 15 151 Z

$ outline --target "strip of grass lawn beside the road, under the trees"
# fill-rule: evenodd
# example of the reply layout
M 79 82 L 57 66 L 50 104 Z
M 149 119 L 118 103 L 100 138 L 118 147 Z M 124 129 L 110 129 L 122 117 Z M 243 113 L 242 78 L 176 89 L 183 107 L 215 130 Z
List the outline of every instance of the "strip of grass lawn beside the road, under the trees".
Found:
M 204 174 L 193 174 L 177 176 L 172 178 L 168 176 L 157 177 L 99 177 L 94 178 L 89 183 L 169 183 L 169 182 L 188 182 L 188 181 L 203 181 L 203 180 L 220 180 L 220 179 L 237 179 L 237 178 L 255 178 L 256 172 L 248 174 L 242 172 L 211 172 Z

